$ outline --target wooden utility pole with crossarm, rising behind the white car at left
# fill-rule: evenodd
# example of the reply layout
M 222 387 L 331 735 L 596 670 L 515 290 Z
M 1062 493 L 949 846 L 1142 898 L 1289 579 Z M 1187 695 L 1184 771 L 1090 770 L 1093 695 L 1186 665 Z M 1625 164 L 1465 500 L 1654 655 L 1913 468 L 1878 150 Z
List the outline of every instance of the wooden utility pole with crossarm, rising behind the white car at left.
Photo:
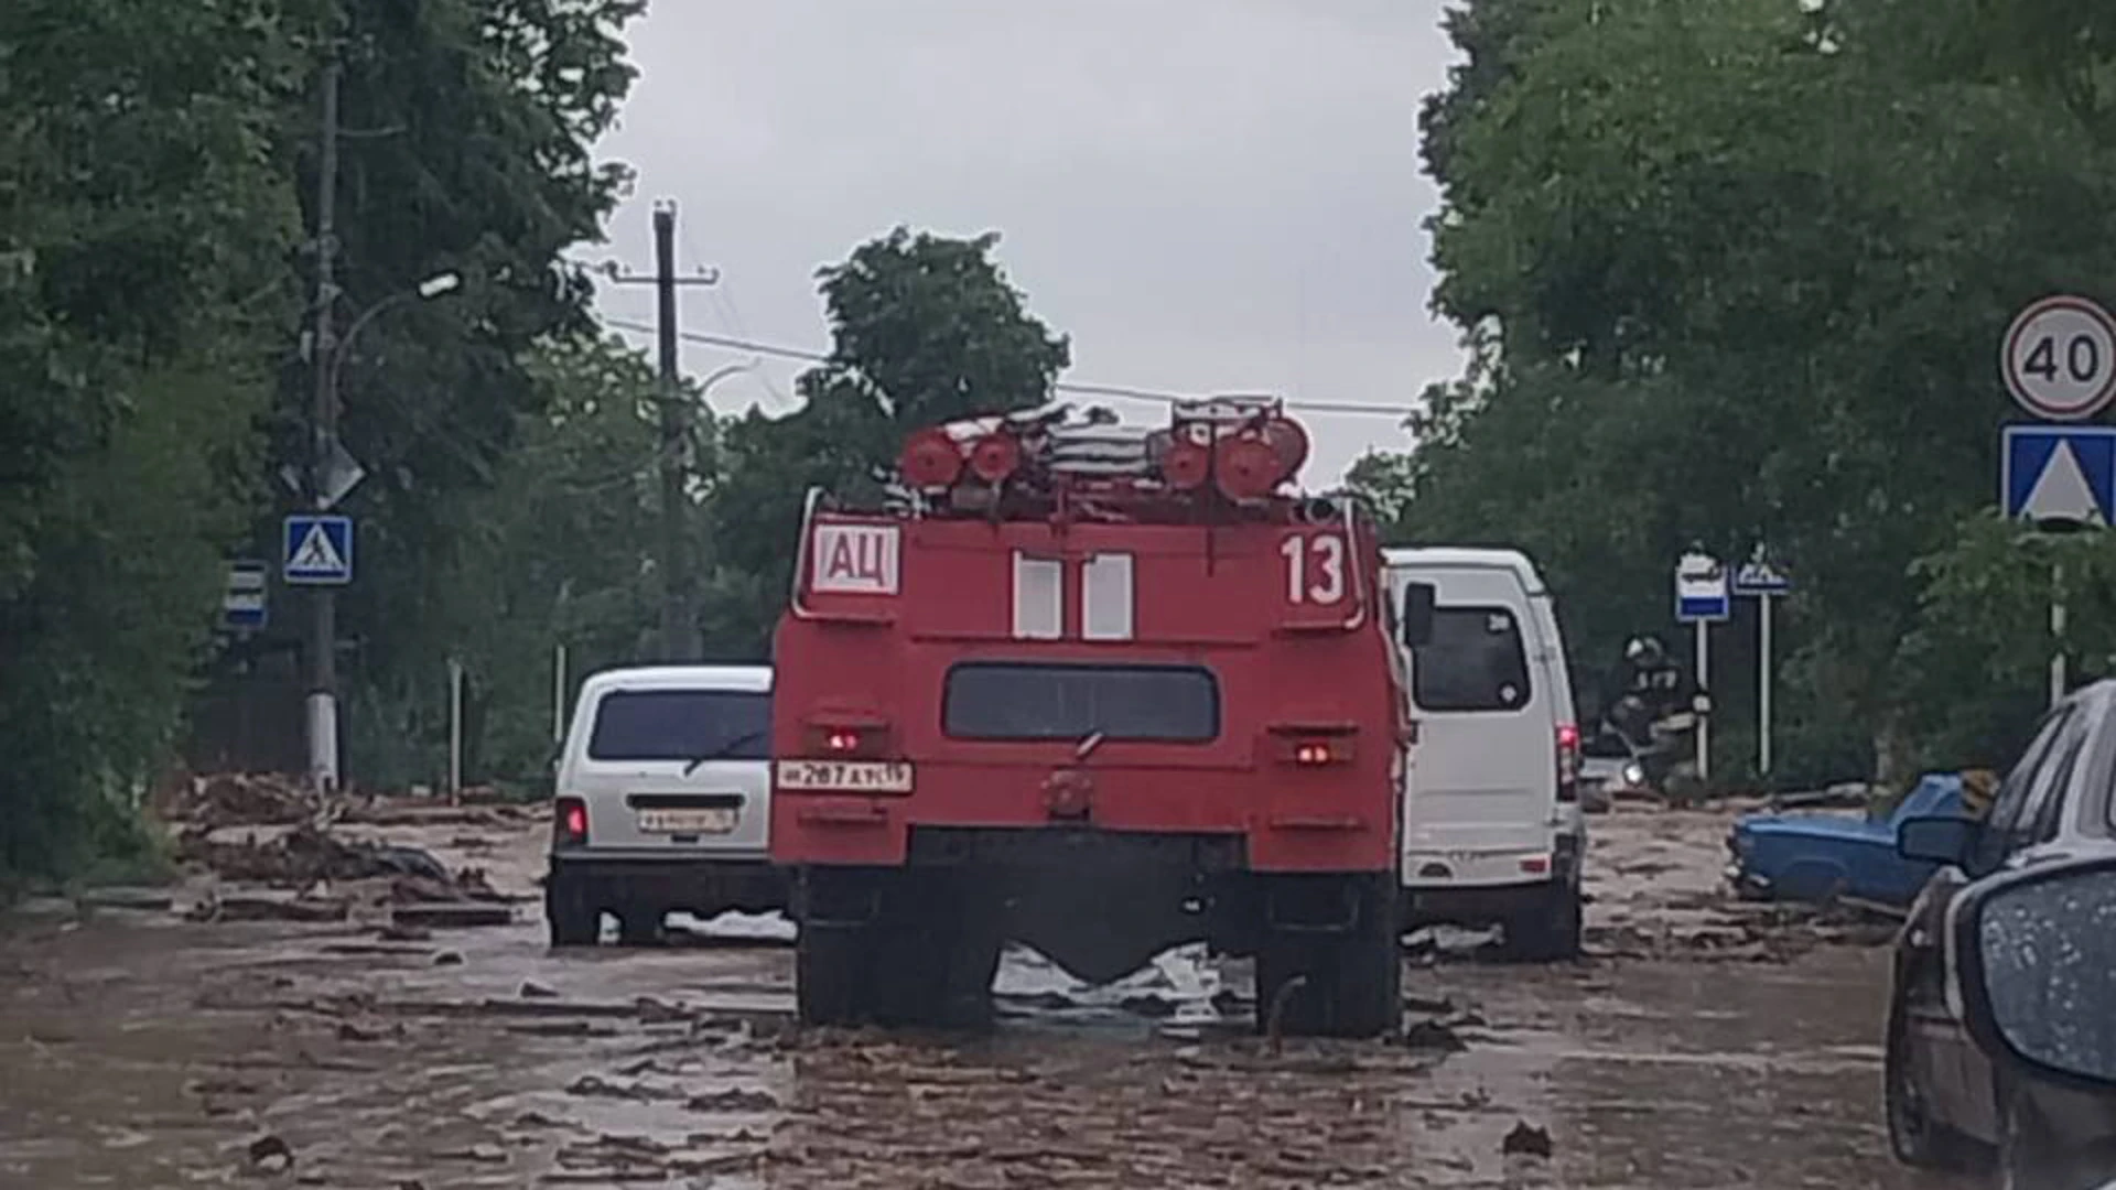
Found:
M 662 661 L 696 661 L 698 625 L 690 601 L 690 402 L 683 398 L 681 358 L 677 354 L 675 290 L 677 286 L 711 286 L 719 282 L 713 269 L 694 277 L 675 275 L 675 203 L 654 203 L 654 275 L 639 277 L 605 267 L 616 284 L 654 284 L 656 345 L 660 356 L 660 538 L 662 538 Z

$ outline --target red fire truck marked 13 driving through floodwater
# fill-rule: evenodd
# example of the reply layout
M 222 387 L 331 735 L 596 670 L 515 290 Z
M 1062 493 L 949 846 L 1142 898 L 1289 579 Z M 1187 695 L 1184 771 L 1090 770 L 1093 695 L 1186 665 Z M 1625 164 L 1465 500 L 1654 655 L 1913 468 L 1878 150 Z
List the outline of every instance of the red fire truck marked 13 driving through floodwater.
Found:
M 1371 521 L 1210 398 L 927 428 L 880 508 L 810 493 L 779 623 L 772 860 L 808 1023 L 990 1012 L 1003 942 L 1088 982 L 1206 940 L 1289 1033 L 1399 1023 L 1409 718 Z

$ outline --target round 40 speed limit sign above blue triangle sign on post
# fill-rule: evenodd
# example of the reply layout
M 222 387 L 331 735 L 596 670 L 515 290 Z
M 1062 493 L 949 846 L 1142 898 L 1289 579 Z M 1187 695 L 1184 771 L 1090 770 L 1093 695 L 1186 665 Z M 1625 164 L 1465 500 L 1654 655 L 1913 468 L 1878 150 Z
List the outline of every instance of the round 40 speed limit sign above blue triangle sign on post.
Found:
M 2038 529 L 2105 529 L 2116 515 L 2116 430 L 2084 421 L 2116 400 L 2116 318 L 2059 294 L 2031 303 L 2000 347 L 2006 392 L 2044 426 L 2008 426 L 2000 451 L 2006 517 Z M 2050 567 L 2050 703 L 2065 697 L 2065 570 Z

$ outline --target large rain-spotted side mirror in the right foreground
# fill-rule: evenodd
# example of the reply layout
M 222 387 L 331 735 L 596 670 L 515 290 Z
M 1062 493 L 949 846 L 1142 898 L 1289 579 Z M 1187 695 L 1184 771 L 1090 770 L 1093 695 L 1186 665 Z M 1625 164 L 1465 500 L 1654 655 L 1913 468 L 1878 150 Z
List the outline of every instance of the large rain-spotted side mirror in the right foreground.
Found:
M 2050 862 L 1964 889 L 1962 1014 L 1993 1059 L 2116 1088 L 2116 858 Z

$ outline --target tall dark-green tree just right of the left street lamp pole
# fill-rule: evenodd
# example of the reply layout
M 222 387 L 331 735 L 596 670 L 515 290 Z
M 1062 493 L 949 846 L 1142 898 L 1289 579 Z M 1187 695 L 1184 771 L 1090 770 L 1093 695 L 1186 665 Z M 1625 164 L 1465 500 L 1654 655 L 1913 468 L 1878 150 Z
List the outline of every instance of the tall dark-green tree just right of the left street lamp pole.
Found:
M 474 548 L 476 512 L 548 385 L 535 343 L 590 328 L 588 282 L 561 252 L 601 237 L 626 172 L 595 140 L 633 80 L 620 38 L 641 0 L 343 0 L 341 328 L 364 309 L 455 271 L 461 292 L 368 324 L 341 379 L 341 432 L 368 479 L 360 580 L 341 599 L 349 773 L 430 779 L 391 756 L 432 735 L 440 656 L 466 648 L 482 610 L 449 589 Z M 281 114 L 281 161 L 313 224 L 322 61 Z M 290 328 L 290 335 L 294 330 Z M 286 368 L 275 464 L 307 466 L 311 373 Z M 269 527 L 260 525 L 260 534 Z

